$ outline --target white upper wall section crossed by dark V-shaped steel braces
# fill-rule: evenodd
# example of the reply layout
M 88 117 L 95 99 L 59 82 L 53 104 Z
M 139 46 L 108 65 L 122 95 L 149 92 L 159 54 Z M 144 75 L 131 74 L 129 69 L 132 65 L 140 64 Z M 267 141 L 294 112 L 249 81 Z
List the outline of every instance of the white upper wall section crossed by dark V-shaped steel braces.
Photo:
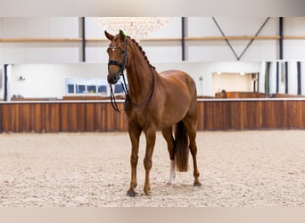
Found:
M 215 20 L 227 37 L 255 36 L 266 18 L 227 18 L 216 17 Z M 215 22 L 209 18 L 188 18 L 188 37 L 221 37 Z M 271 18 L 260 31 L 259 36 L 278 35 L 278 19 Z M 229 43 L 240 56 L 250 40 L 229 40 Z M 276 40 L 254 40 L 243 54 L 242 61 L 265 61 L 276 59 Z M 189 41 L 187 58 L 190 61 L 236 61 L 235 54 L 224 40 Z

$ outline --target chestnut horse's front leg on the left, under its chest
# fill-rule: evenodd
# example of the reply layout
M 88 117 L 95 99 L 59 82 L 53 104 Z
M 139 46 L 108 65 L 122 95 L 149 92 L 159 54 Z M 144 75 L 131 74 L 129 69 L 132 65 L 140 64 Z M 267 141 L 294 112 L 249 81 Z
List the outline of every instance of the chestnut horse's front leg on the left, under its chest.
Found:
M 141 135 L 141 129 L 136 128 L 134 125 L 128 125 L 128 133 L 131 141 L 131 154 L 130 154 L 130 165 L 131 165 L 131 179 L 130 186 L 128 189 L 128 196 L 136 196 L 136 165 L 139 151 L 139 139 Z

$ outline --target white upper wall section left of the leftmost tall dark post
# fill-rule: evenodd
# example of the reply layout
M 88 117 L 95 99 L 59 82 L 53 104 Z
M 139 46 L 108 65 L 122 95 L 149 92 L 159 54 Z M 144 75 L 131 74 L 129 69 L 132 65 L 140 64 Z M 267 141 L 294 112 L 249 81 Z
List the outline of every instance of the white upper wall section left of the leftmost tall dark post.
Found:
M 79 37 L 78 18 L 2 18 L 0 38 Z M 79 62 L 79 43 L 13 42 L 0 44 L 0 63 Z

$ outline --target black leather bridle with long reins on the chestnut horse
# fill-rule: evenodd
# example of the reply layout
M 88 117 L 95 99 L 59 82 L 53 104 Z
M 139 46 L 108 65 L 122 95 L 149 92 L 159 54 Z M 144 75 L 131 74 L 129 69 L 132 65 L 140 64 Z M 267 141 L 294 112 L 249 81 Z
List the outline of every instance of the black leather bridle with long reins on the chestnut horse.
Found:
M 118 103 L 115 99 L 115 95 L 113 92 L 113 88 L 112 85 L 110 84 L 109 86 L 111 87 L 111 105 L 114 111 L 117 111 L 119 113 L 123 113 L 126 110 L 126 105 L 127 105 L 127 101 L 131 104 L 132 107 L 134 108 L 141 108 L 147 105 L 147 103 L 151 100 L 152 98 L 152 94 L 154 91 L 154 87 L 155 87 L 155 77 L 152 71 L 152 87 L 151 90 L 149 92 L 149 94 L 147 95 L 146 99 L 144 100 L 144 102 L 142 103 L 134 103 L 131 98 L 129 97 L 129 92 L 128 92 L 128 85 L 126 83 L 126 79 L 125 79 L 125 75 L 124 75 L 124 70 L 127 68 L 127 63 L 128 63 L 128 45 L 129 45 L 129 41 L 128 41 L 129 37 L 126 37 L 126 43 L 121 44 L 121 45 L 117 45 L 117 46 L 109 46 L 108 49 L 111 50 L 118 50 L 120 49 L 123 45 L 126 45 L 126 50 L 124 52 L 124 57 L 123 57 L 123 61 L 122 62 L 118 62 L 118 61 L 114 61 L 114 60 L 109 60 L 108 62 L 108 70 L 110 68 L 111 65 L 115 65 L 118 66 L 120 69 L 118 71 L 119 77 L 122 76 L 123 77 L 123 82 L 121 82 L 121 86 L 123 88 L 124 94 L 125 94 L 125 102 L 124 102 L 124 108 L 122 110 L 119 109 Z M 152 69 L 152 68 L 151 68 Z

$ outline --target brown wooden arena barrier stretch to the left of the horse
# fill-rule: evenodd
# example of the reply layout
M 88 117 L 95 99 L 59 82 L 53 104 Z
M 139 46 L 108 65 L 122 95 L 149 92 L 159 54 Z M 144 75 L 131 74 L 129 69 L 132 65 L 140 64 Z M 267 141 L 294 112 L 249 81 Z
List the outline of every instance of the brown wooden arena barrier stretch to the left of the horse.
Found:
M 111 103 L 0 103 L 2 132 L 126 131 Z

